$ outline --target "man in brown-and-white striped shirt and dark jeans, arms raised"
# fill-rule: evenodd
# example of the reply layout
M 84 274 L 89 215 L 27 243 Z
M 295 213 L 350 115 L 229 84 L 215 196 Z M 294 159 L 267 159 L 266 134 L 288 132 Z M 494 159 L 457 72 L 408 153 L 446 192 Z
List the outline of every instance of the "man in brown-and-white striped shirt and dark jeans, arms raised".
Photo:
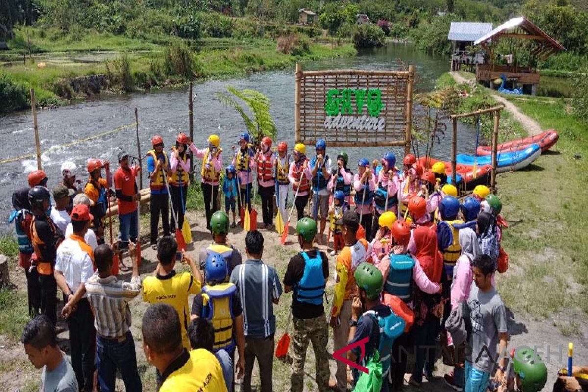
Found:
M 141 292 L 135 244 L 129 244 L 133 263 L 131 282 L 118 280 L 112 274 L 113 255 L 108 244 L 98 246 L 94 251 L 98 271 L 86 281 L 86 293 L 95 317 L 98 381 L 103 391 L 114 392 L 118 370 L 127 391 L 141 391 L 129 307 L 129 301 Z

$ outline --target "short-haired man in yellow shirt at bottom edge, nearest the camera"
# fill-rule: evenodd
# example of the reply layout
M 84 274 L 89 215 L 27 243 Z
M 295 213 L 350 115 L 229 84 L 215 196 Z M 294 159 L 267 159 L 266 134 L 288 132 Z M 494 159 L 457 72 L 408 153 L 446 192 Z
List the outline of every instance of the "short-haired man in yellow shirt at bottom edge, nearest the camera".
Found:
M 185 334 L 178 312 L 168 304 L 152 305 L 143 314 L 143 351 L 161 374 L 158 391 L 227 392 L 222 368 L 214 354 L 205 349 L 188 353 L 182 346 L 182 332 Z

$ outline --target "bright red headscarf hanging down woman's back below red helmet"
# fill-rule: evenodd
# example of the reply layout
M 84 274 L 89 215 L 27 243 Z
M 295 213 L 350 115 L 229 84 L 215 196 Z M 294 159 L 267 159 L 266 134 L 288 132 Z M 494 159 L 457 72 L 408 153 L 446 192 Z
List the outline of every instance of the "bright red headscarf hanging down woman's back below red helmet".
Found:
M 423 268 L 426 276 L 432 282 L 439 283 L 443 272 L 443 256 L 437 246 L 437 234 L 429 227 L 417 227 L 410 232 L 415 242 L 416 254 L 414 255 Z

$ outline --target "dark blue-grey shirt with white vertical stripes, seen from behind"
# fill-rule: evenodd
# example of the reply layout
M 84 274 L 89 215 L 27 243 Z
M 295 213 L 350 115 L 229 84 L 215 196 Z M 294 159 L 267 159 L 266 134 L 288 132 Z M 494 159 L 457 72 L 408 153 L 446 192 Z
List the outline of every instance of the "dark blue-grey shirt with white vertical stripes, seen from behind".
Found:
M 245 336 L 265 338 L 276 331 L 273 303 L 282 295 L 282 284 L 275 268 L 261 260 L 248 259 L 238 264 L 230 274 L 235 283 L 243 308 L 243 333 Z

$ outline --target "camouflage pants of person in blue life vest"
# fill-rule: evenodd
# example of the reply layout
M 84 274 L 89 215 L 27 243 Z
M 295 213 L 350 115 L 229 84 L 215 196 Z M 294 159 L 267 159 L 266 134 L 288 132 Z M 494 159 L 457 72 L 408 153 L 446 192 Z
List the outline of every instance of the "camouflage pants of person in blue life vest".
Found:
M 315 353 L 316 384 L 320 392 L 329 390 L 329 354 L 327 341 L 329 327 L 325 314 L 314 319 L 298 319 L 292 316 L 292 392 L 302 392 L 304 387 L 304 363 L 309 341 Z

